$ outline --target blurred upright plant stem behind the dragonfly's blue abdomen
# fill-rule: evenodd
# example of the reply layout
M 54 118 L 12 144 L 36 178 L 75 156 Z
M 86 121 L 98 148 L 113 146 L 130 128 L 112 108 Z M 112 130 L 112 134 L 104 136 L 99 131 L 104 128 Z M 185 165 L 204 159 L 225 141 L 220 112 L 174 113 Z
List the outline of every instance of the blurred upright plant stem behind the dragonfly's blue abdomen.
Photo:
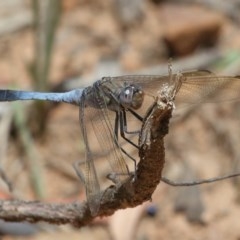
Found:
M 32 0 L 35 27 L 35 60 L 33 61 L 33 85 L 35 89 L 49 89 L 49 72 L 54 44 L 54 36 L 61 13 L 59 0 Z M 32 106 L 32 129 L 42 134 L 46 127 L 48 104 L 36 102 Z

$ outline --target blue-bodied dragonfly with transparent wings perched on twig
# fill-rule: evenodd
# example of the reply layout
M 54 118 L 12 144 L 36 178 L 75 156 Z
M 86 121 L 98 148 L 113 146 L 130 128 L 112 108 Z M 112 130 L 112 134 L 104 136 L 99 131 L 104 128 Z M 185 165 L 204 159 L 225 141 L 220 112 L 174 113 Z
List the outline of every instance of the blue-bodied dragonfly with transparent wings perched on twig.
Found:
M 128 137 L 128 134 L 138 135 L 139 129 L 128 129 L 127 116 L 141 122 L 142 116 L 145 116 L 159 94 L 163 101 L 169 101 L 168 96 L 174 96 L 175 104 L 196 104 L 239 99 L 238 89 L 240 77 L 237 76 L 217 76 L 207 70 L 173 74 L 169 67 L 168 75 L 103 77 L 92 86 L 68 92 L 2 89 L 0 101 L 44 100 L 65 102 L 79 107 L 80 129 L 85 146 L 85 174 L 79 171 L 77 174 L 85 184 L 87 201 L 94 216 L 99 211 L 102 195 L 97 176 L 98 169 L 94 162 L 96 155 L 89 139 L 91 129 L 94 130 L 101 149 L 106 153 L 111 175 L 114 176 L 113 182 L 121 184 L 131 175 L 126 163 L 126 158 L 131 156 L 120 146 L 119 136 L 139 148 L 138 144 Z M 169 94 L 169 91 L 173 94 Z M 216 91 L 218 94 L 215 95 Z M 110 117 L 113 115 L 114 121 Z M 89 122 L 88 117 L 91 119 L 92 116 L 97 117 Z

